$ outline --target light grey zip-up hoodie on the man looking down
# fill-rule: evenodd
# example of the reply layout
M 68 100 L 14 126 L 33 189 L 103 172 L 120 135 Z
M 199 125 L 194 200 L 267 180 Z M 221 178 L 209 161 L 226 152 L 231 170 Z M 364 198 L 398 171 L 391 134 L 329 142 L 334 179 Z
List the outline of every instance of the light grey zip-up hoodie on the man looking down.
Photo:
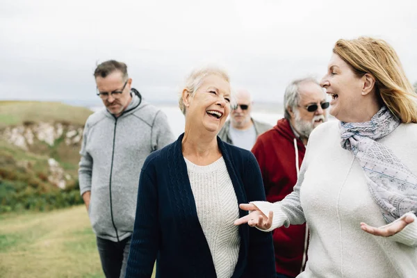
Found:
M 80 192 L 91 191 L 92 229 L 99 238 L 115 242 L 133 231 L 145 158 L 174 141 L 166 115 L 142 101 L 140 94 L 131 94 L 131 103 L 119 117 L 106 108 L 88 117 L 80 152 Z

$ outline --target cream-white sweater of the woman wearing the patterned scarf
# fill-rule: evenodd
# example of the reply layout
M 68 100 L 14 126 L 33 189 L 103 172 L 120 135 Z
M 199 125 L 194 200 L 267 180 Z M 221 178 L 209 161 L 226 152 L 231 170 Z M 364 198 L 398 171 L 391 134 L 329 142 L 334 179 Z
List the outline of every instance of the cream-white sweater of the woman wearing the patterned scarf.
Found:
M 417 124 L 400 124 L 379 140 L 417 173 Z M 384 224 L 361 166 L 342 149 L 338 122 L 311 133 L 294 192 L 275 204 L 253 202 L 274 211 L 272 228 L 307 222 L 309 261 L 298 277 L 417 277 L 417 218 L 389 238 L 362 231 L 360 222 Z

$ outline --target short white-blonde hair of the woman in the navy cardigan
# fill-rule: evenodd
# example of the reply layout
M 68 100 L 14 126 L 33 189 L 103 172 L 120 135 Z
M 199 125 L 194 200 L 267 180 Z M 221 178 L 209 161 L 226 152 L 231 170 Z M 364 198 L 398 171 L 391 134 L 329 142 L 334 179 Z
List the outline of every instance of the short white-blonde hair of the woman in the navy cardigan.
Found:
M 221 67 L 218 67 L 217 65 L 206 65 L 204 67 L 199 67 L 193 70 L 192 72 L 190 72 L 190 74 L 188 74 L 183 88 L 179 91 L 178 106 L 181 109 L 183 115 L 186 115 L 186 106 L 184 106 L 182 100 L 183 90 L 187 90 L 188 92 L 190 92 L 190 96 L 193 97 L 194 93 L 202 85 L 204 77 L 211 74 L 217 74 L 221 76 L 225 81 L 227 81 L 227 83 L 230 84 L 229 74 L 227 74 L 225 70 L 223 70 Z M 234 90 L 230 89 L 230 95 L 230 105 L 233 109 L 236 106 L 236 97 Z

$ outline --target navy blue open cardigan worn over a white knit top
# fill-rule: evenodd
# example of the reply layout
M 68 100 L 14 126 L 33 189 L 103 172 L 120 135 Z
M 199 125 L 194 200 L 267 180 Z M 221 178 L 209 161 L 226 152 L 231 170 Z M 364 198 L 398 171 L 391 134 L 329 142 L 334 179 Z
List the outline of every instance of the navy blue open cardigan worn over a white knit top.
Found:
M 126 277 L 216 277 L 213 259 L 197 217 L 181 142 L 150 154 L 140 173 L 138 205 Z M 238 203 L 265 200 L 254 155 L 222 142 L 218 146 Z M 247 212 L 239 209 L 240 217 Z M 272 234 L 240 225 L 240 251 L 232 277 L 276 277 Z

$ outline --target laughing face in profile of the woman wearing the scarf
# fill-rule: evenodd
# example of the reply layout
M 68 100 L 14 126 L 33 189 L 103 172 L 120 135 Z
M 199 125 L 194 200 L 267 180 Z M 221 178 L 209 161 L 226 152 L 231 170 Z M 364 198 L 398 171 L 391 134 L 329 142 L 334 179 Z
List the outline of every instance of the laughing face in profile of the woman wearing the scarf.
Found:
M 333 54 L 320 85 L 332 97 L 330 115 L 343 122 L 350 122 L 349 119 L 354 117 L 352 113 L 361 107 L 362 92 L 361 79 L 354 74 L 350 65 Z

